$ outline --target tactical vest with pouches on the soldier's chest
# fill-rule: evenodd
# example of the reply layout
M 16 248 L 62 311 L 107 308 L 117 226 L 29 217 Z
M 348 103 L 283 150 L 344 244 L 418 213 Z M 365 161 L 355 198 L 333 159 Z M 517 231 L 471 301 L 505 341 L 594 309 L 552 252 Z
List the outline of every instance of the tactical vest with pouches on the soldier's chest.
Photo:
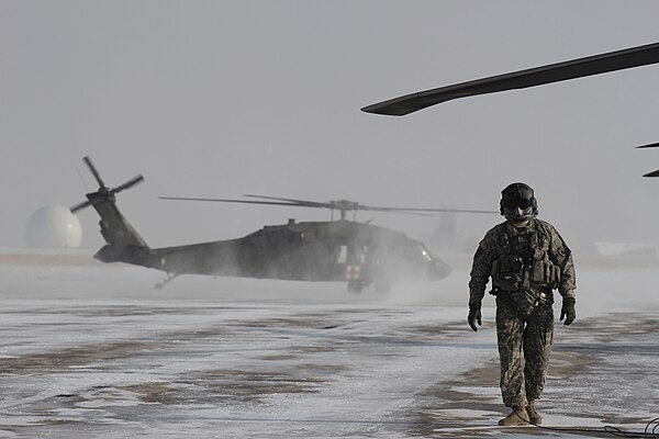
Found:
M 536 219 L 535 230 L 511 236 L 507 225 L 495 235 L 496 258 L 492 263 L 493 292 L 546 292 L 558 288 L 560 268 L 549 257 L 550 235 Z

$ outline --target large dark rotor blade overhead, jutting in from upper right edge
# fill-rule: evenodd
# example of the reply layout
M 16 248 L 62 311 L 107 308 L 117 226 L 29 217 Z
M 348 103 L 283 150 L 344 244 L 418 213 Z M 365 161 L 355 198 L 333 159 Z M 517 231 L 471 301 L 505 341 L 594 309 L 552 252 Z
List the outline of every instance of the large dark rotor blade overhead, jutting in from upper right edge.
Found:
M 659 43 L 418 91 L 367 105 L 361 111 L 402 116 L 453 99 L 524 89 L 655 63 L 659 63 Z

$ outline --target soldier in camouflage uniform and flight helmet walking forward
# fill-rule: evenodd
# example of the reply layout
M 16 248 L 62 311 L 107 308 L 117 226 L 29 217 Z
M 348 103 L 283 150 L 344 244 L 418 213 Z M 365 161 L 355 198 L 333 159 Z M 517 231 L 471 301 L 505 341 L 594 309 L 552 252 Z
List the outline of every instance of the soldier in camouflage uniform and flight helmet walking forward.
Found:
M 496 296 L 496 339 L 501 394 L 512 413 L 501 426 L 540 425 L 535 403 L 540 397 L 554 341 L 554 293 L 562 296 L 560 320 L 574 322 L 574 266 L 556 228 L 536 218 L 537 201 L 525 183 L 501 192 L 506 221 L 480 241 L 469 281 L 469 326 L 481 325 L 481 303 L 492 278 Z M 522 360 L 524 352 L 524 360 Z

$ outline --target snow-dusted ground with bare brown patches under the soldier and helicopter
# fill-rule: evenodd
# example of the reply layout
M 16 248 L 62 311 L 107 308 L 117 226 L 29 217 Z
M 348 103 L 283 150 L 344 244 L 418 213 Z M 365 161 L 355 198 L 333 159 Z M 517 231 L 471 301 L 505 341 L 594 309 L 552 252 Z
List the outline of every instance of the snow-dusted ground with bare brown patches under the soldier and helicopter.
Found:
M 494 308 L 468 268 L 388 296 L 0 255 L 0 437 L 612 437 L 659 417 L 659 272 L 578 260 L 539 408 L 496 427 Z M 558 312 L 558 306 L 557 306 Z

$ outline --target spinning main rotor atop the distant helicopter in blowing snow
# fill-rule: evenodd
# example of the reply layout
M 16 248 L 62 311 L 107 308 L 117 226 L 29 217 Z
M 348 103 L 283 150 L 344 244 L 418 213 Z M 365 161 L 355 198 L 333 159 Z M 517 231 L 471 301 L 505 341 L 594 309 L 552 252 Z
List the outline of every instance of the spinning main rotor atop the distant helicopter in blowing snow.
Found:
M 437 212 L 456 212 L 456 213 L 478 213 L 478 214 L 499 214 L 494 211 L 479 211 L 479 210 L 463 210 L 463 209 L 420 209 L 420 207 L 383 207 L 383 206 L 371 206 L 349 200 L 336 200 L 327 202 L 317 202 L 309 200 L 298 199 L 286 199 L 280 196 L 268 196 L 268 195 L 254 195 L 245 194 L 244 196 L 260 199 L 260 200 L 235 200 L 235 199 L 208 199 L 208 198 L 188 198 L 188 196 L 160 196 L 160 200 L 178 200 L 178 201 L 202 201 L 202 202 L 220 202 L 220 203 L 244 203 L 244 204 L 266 204 L 266 205 L 282 205 L 292 207 L 315 207 L 315 209 L 328 209 L 332 211 L 334 218 L 334 211 L 338 211 L 340 219 L 346 218 L 348 212 L 353 212 L 354 217 L 357 211 L 371 211 L 371 212 L 393 212 L 403 213 L 410 215 L 428 215 Z

